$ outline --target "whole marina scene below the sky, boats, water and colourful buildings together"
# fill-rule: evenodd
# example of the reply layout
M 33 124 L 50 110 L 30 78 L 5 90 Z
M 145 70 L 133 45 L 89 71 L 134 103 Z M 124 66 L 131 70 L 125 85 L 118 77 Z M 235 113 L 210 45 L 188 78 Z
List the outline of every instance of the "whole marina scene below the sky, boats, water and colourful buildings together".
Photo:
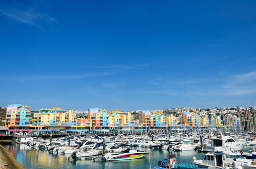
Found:
M 10 104 L 0 139 L 25 168 L 256 168 L 255 107 L 178 110 L 91 108 L 81 118 Z

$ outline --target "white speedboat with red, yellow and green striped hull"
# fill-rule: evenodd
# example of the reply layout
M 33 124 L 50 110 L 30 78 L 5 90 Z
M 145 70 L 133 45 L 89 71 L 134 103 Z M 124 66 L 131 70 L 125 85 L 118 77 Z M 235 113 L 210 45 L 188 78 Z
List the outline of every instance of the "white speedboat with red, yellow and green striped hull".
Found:
M 126 149 L 121 153 L 107 153 L 104 157 L 102 157 L 102 160 L 106 160 L 106 161 L 132 160 L 132 159 L 143 158 L 143 157 L 146 157 L 147 155 L 148 155 L 148 152 L 141 152 L 141 151 Z

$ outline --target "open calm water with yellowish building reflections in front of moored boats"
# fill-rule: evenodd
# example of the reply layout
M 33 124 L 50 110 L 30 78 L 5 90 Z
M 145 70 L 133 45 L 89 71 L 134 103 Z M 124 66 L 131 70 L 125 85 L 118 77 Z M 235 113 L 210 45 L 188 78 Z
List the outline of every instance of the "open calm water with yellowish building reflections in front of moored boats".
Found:
M 24 168 L 149 168 L 157 166 L 157 162 L 167 158 L 169 152 L 167 150 L 153 150 L 146 148 L 149 156 L 142 159 L 126 160 L 126 161 L 95 161 L 92 160 L 77 160 L 73 161 L 70 157 L 62 155 L 54 156 L 45 151 L 31 149 L 27 145 L 5 144 L 8 152 L 21 163 Z M 251 146 L 246 146 L 245 150 L 253 149 Z M 202 159 L 204 153 L 197 151 L 175 152 L 178 163 L 192 164 L 192 157 Z M 150 159 L 150 162 L 149 162 Z

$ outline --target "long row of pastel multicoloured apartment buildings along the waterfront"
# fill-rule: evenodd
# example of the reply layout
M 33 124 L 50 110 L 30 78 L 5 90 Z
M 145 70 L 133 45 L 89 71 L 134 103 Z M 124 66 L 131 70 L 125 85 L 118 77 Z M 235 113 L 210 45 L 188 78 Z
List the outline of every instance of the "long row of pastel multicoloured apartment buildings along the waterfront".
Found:
M 134 120 L 131 112 L 108 111 L 100 108 L 88 110 L 87 118 L 77 118 L 75 111 L 60 107 L 40 109 L 37 112 L 22 104 L 10 104 L 6 112 L 6 128 L 10 131 L 140 131 L 159 128 L 199 128 L 206 126 L 240 126 L 240 118 L 234 114 L 216 115 L 183 112 L 179 116 L 162 111 L 142 111 L 139 119 Z

